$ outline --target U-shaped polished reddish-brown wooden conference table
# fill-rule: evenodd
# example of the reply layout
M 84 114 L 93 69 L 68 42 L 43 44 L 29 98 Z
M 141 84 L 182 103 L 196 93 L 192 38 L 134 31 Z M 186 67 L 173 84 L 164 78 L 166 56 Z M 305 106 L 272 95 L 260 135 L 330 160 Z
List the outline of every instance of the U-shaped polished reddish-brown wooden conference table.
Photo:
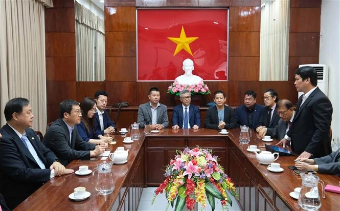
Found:
M 114 192 L 99 195 L 96 191 L 97 177 L 92 174 L 77 176 L 74 173 L 54 177 L 42 185 L 29 198 L 18 205 L 15 210 L 136 210 L 144 187 L 156 186 L 164 180 L 164 168 L 177 150 L 184 147 L 211 148 L 219 157 L 219 164 L 235 182 L 239 195 L 239 206 L 243 210 L 300 210 L 296 199 L 289 196 L 295 187 L 301 186 L 301 178 L 295 175 L 288 166 L 294 164 L 295 156 L 279 157 L 276 162 L 284 169 L 281 173 L 272 173 L 267 165 L 260 164 L 252 152 L 246 151 L 248 145 L 274 145 L 277 140 L 263 142 L 257 133 L 248 144 L 238 141 L 240 130 L 228 130 L 222 135 L 211 129 L 164 129 L 159 133 L 145 134 L 132 144 L 123 143 L 129 134 L 116 134 L 116 144 L 110 144 L 108 150 L 114 152 L 118 146 L 129 149 L 128 161 L 125 164 L 112 165 L 114 175 Z M 264 148 L 260 148 L 264 150 Z M 80 165 L 88 165 L 93 170 L 97 164 L 109 162 L 109 158 L 97 161 L 72 161 L 67 168 L 77 171 Z M 325 185 L 338 185 L 340 177 L 317 174 Z M 91 196 L 83 201 L 73 201 L 69 195 L 78 186 L 86 187 Z M 320 187 L 319 187 L 320 188 Z M 321 193 L 321 190 L 319 189 Z M 151 199 L 150 199 L 151 202 Z M 320 210 L 339 210 L 340 195 L 326 192 L 321 198 Z M 152 206 L 152 205 L 150 205 Z

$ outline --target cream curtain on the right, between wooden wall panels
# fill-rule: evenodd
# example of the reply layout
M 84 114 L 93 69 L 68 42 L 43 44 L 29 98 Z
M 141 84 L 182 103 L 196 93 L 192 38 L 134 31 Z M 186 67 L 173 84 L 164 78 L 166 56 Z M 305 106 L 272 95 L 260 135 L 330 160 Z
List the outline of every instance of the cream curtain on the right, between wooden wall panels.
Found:
M 288 80 L 289 1 L 261 3 L 260 80 Z

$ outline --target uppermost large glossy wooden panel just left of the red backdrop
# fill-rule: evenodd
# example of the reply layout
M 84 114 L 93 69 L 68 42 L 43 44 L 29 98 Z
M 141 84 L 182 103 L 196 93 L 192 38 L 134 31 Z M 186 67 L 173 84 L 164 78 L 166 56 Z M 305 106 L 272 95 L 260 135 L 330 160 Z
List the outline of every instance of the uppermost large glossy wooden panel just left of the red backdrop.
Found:
M 135 32 L 135 7 L 105 7 L 105 32 Z

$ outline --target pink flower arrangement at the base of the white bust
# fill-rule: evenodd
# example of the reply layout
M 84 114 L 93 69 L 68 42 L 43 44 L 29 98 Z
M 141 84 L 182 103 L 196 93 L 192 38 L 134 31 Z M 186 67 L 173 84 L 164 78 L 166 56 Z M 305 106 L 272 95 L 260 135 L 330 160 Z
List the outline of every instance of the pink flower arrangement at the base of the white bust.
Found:
M 200 81 L 197 85 L 182 85 L 179 84 L 178 81 L 175 81 L 168 87 L 167 93 L 178 96 L 183 90 L 188 90 L 192 95 L 195 93 L 202 95 L 210 94 L 209 87 L 205 85 L 203 81 Z

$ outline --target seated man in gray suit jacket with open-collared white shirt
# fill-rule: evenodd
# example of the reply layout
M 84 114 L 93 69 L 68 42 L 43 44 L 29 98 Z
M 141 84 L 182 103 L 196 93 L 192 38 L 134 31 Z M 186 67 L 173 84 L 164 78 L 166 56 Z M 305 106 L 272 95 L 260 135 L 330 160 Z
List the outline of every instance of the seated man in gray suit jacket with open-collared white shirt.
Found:
M 169 125 L 168 108 L 159 101 L 160 91 L 153 87 L 149 90 L 149 102 L 141 104 L 138 110 L 138 123 L 140 128 L 150 124 L 151 130 L 161 130 Z

